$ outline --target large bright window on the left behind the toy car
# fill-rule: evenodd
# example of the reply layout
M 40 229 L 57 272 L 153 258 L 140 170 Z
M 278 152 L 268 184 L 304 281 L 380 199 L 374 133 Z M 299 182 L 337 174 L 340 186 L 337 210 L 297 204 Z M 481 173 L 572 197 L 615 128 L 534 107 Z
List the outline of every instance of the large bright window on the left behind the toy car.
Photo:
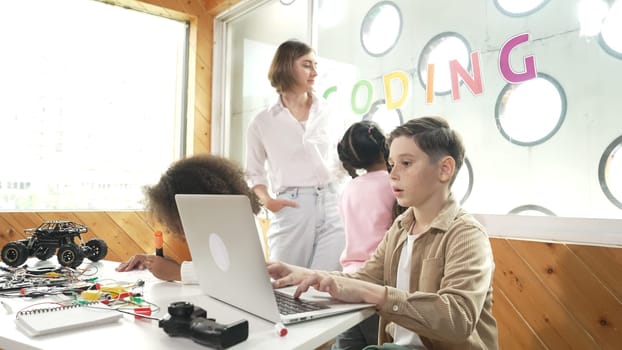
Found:
M 92 0 L 1 2 L 0 210 L 142 209 L 185 152 L 187 32 Z

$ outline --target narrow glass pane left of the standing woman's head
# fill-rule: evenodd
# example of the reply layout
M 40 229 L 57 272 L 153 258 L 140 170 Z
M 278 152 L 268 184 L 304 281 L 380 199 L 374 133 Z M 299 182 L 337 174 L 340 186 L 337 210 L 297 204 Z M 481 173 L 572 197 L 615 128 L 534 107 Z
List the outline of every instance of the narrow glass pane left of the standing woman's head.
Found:
M 214 67 L 221 69 L 214 72 L 212 150 L 243 165 L 248 123 L 278 98 L 268 81 L 272 56 L 288 39 L 310 43 L 311 22 L 307 1 L 241 6 L 225 14 L 226 26 L 215 30 L 222 44 L 214 50 Z

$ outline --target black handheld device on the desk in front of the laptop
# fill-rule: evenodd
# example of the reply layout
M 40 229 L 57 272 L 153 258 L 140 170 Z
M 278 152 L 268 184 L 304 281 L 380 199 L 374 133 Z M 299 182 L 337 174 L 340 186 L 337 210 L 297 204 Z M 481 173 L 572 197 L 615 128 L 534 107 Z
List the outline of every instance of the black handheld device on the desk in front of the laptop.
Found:
M 171 303 L 168 313 L 158 326 L 171 337 L 190 338 L 215 349 L 226 349 L 248 338 L 247 320 L 222 325 L 213 318 L 206 318 L 204 309 L 185 301 Z

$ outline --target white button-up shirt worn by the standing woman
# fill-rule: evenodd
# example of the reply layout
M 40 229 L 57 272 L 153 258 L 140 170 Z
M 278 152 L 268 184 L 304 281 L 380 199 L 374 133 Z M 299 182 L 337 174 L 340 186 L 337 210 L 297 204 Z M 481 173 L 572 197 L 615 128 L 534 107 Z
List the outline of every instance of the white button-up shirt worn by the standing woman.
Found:
M 248 126 L 245 175 L 249 187 L 265 185 L 280 192 L 335 181 L 343 172 L 337 155 L 343 131 L 343 121 L 331 115 L 325 100 L 313 95 L 309 119 L 300 123 L 279 98 Z

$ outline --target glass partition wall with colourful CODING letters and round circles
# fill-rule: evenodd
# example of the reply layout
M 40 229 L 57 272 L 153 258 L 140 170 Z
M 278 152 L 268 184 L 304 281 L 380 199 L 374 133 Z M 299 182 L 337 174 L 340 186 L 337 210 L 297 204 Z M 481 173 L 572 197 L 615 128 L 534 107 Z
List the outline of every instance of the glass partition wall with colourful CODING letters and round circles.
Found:
M 316 92 L 344 125 L 374 120 L 388 133 L 417 116 L 449 120 L 467 149 L 453 190 L 470 212 L 622 227 L 622 56 L 610 39 L 622 36 L 621 0 L 589 34 L 596 15 L 580 1 L 287 3 L 244 1 L 216 19 L 218 153 L 244 165 L 246 126 L 276 99 L 272 55 L 298 38 L 316 49 Z

